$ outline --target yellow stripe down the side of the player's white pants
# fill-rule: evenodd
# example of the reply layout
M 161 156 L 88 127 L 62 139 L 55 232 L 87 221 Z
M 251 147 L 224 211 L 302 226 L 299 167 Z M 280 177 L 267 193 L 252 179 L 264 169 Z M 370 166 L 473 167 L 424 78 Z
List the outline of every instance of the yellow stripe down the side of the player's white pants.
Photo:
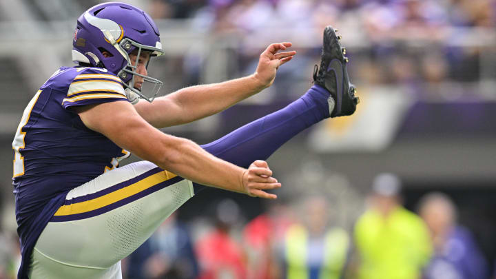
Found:
M 173 174 L 172 172 L 158 172 L 157 174 L 148 176 L 143 180 L 139 180 L 136 183 L 118 189 L 104 196 L 100 196 L 92 200 L 86 200 L 81 203 L 74 203 L 72 205 L 63 205 L 59 208 L 59 210 L 55 212 L 54 216 L 65 216 L 93 211 L 95 209 L 111 205 L 112 203 L 116 203 L 119 200 L 123 200 L 124 198 L 138 194 L 139 192 L 143 192 L 149 187 L 157 185 L 158 183 L 163 183 L 164 181 L 172 179 L 176 176 L 177 175 Z

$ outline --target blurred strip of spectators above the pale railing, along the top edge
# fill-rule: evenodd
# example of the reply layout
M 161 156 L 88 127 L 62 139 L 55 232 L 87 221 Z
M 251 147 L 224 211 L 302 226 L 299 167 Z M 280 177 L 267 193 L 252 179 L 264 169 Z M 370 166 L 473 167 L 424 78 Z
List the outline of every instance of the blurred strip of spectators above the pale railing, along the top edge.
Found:
M 494 1 L 490 0 L 152 0 L 150 15 L 155 19 L 198 18 L 211 28 L 239 28 L 246 32 L 269 25 L 290 27 L 317 25 L 356 17 L 373 35 L 403 26 L 413 32 L 432 34 L 443 25 L 492 27 Z M 319 25 L 320 24 L 320 25 Z M 418 30 L 417 28 L 427 28 Z M 407 36 L 408 34 L 395 34 Z

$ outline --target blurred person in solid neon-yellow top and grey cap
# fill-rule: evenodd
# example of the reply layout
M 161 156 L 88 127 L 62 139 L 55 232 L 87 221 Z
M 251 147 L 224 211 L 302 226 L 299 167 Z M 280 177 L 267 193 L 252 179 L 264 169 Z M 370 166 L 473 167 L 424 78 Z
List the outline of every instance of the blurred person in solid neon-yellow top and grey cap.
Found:
M 428 229 L 402 207 L 400 187 L 393 174 L 373 180 L 370 207 L 355 225 L 357 278 L 417 279 L 431 256 Z

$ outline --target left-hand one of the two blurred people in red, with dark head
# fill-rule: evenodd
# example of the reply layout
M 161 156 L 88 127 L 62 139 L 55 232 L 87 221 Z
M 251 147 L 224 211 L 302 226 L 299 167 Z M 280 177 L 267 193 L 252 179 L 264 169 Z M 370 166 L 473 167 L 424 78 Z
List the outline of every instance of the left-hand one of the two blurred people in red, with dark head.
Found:
M 233 200 L 218 204 L 213 231 L 196 242 L 200 279 L 247 278 L 245 255 L 241 245 L 229 234 L 239 220 L 239 207 Z

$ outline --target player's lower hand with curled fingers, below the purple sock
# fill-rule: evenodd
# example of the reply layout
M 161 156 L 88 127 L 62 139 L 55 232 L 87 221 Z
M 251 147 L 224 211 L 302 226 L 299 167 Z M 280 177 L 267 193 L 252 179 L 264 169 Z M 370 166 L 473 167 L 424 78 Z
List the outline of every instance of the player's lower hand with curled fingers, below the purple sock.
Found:
M 265 190 L 281 187 L 276 178 L 272 177 L 272 171 L 265 161 L 255 161 L 242 176 L 242 184 L 248 196 L 259 198 L 277 198 L 274 194 L 269 194 Z

